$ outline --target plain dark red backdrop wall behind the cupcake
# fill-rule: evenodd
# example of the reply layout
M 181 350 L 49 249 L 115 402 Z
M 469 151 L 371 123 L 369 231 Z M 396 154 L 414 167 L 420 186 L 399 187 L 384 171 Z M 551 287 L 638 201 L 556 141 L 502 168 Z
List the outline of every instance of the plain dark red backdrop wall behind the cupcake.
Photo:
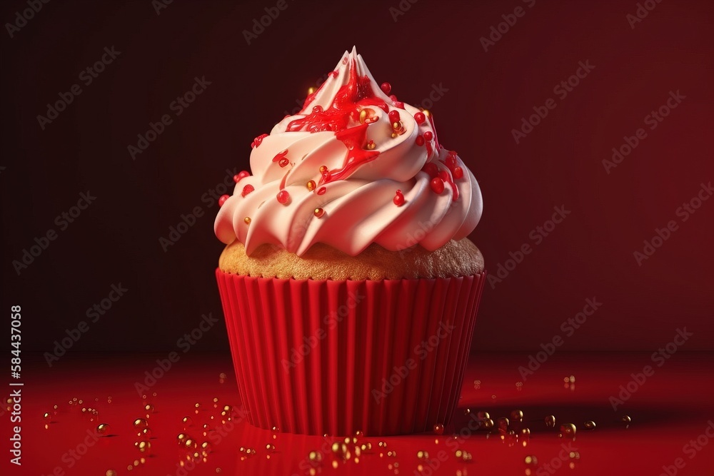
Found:
M 401 4 L 411 7 L 395 21 L 397 0 L 288 1 L 250 45 L 241 31 L 274 2 L 175 1 L 157 15 L 149 1 L 53 1 L 12 38 L 4 29 L 3 303 L 23 306 L 25 348 L 51 350 L 112 284 L 128 291 L 73 350 L 172 350 L 202 313 L 221 315 L 217 207 L 203 193 L 246 168 L 253 137 L 356 45 L 400 99 L 441 88 L 439 137 L 481 184 L 471 238 L 491 275 L 512 270 L 486 288 L 477 350 L 530 351 L 554 335 L 568 350 L 655 350 L 683 327 L 695 334 L 688 350 L 711 349 L 714 200 L 677 214 L 714 179 L 710 3 L 652 1 L 634 27 L 635 1 Z M 516 6 L 522 16 L 508 16 Z M 5 2 L 0 19 L 26 8 Z M 484 51 L 502 15 L 516 22 Z M 121 53 L 85 86 L 81 71 L 112 46 Z M 554 91 L 580 62 L 594 68 Z M 210 85 L 176 117 L 171 102 L 203 76 Z M 74 83 L 81 94 L 43 131 L 36 116 Z M 684 98 L 652 130 L 645 116 L 670 91 Z M 549 98 L 516 143 L 512 130 Z M 173 123 L 132 160 L 127 146 L 165 113 Z M 647 136 L 608 173 L 603 160 L 638 128 Z M 96 201 L 60 231 L 55 217 L 86 191 Z M 555 206 L 570 214 L 538 238 Z M 165 253 L 159 238 L 196 207 L 203 216 Z M 638 265 L 633 253 L 668 221 L 678 229 Z M 56 240 L 17 275 L 12 261 L 50 228 Z M 509 252 L 525 244 L 514 268 Z M 602 305 L 568 336 L 560 325 L 587 298 Z M 227 350 L 222 323 L 199 345 Z

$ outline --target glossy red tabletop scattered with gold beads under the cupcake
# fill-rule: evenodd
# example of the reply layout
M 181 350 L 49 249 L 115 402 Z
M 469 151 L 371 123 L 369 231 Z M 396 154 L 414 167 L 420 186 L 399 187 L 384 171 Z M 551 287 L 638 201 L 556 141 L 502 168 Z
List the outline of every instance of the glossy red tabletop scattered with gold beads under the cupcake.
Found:
M 478 340 L 474 344 L 478 345 Z M 149 389 L 149 401 L 156 412 L 150 413 L 147 419 L 152 437 L 151 454 L 146 457 L 134 446 L 138 438 L 132 422 L 146 414 L 134 384 L 144 378 L 145 371 L 156 366 L 156 358 L 166 358 L 166 354 L 81 357 L 65 358 L 56 363 L 51 372 L 44 361 L 25 365 L 21 402 L 23 466 L 21 470 L 11 467 L 5 456 L 0 462 L 1 474 L 49 475 L 55 467 L 66 475 L 82 476 L 101 476 L 108 469 L 116 470 L 119 475 L 182 474 L 177 472 L 177 465 L 186 452 L 179 449 L 176 436 L 184 431 L 181 419 L 186 415 L 193 419 L 186 432 L 196 437 L 199 444 L 208 440 L 213 447 L 207 461 L 196 465 L 189 472 L 191 475 L 216 475 L 217 468 L 224 475 L 308 475 L 311 465 L 307 457 L 311 450 L 324 450 L 323 462 L 315 467 L 316 474 L 321 475 L 413 475 L 420 463 L 425 467 L 423 475 L 456 475 L 458 470 L 462 475 L 472 476 L 525 475 L 526 455 L 538 457 L 539 466 L 532 468 L 535 475 L 657 476 L 663 472 L 663 465 L 674 465 L 677 458 L 682 458 L 684 463 L 683 468 L 677 470 L 678 475 L 713 474 L 714 444 L 705 434 L 714 419 L 711 399 L 714 356 L 711 354 L 675 353 L 657 367 L 650 354 L 643 353 L 555 353 L 533 375 L 526 375 L 520 391 L 516 383 L 523 379 L 517 369 L 527 365 L 527 355 L 477 355 L 466 370 L 458 410 L 460 421 L 454 427 L 447 428 L 440 436 L 359 437 L 358 444 L 371 442 L 372 445 L 371 451 L 360 455 L 359 462 L 353 450 L 347 461 L 333 455 L 330 447 L 336 438 L 281 432 L 273 438 L 270 430 L 248 425 L 239 411 L 236 420 L 231 422 L 234 426 L 227 425 L 222 435 L 213 431 L 203 436 L 203 422 L 208 422 L 211 428 L 221 427 L 217 419 L 223 405 L 239 409 L 240 400 L 230 356 L 197 353 L 181 356 Z M 28 360 L 27 355 L 25 358 Z M 613 411 L 608 401 L 610 395 L 616 395 L 620 385 L 628 384 L 630 373 L 641 372 L 645 365 L 653 366 L 653 375 L 646 378 L 618 411 Z M 227 375 L 224 383 L 219 383 L 221 372 Z M 575 385 L 565 388 L 563 377 L 569 375 L 575 376 Z M 474 380 L 480 381 L 478 389 Z M 154 392 L 156 396 L 152 395 Z M 111 403 L 106 400 L 110 395 Z M 69 405 L 74 397 L 84 400 L 83 405 Z M 216 408 L 213 408 L 213 397 L 218 397 Z M 201 404 L 198 413 L 194 407 L 196 402 Z M 52 405 L 58 405 L 59 409 L 52 422 L 47 423 L 42 414 L 51 411 Z M 99 410 L 99 421 L 109 423 L 114 436 L 100 437 L 96 445 L 89 447 L 69 468 L 69 450 L 81 450 L 78 445 L 87 431 L 96 426 L 96 422 L 81 415 L 81 407 L 86 405 Z M 531 429 L 526 447 L 523 440 L 501 440 L 498 432 L 491 432 L 488 437 L 483 430 L 469 432 L 468 418 L 461 410 L 464 407 L 471 408 L 472 413 L 491 412 L 493 419 L 510 415 L 514 409 L 523 410 L 524 425 Z M 577 425 L 574 441 L 560 439 L 557 431 L 545 427 L 543 417 L 550 414 L 555 415 L 558 424 Z M 632 417 L 629 427 L 620 421 L 625 414 Z M 585 420 L 595 421 L 595 430 L 585 430 Z M 708 431 L 710 436 L 714 435 L 714 429 Z M 450 435 L 454 432 L 461 433 L 463 438 L 453 440 Z M 4 427 L 0 443 L 4 445 L 4 455 L 9 445 L 7 437 L 8 430 Z M 696 443 L 698 438 L 700 443 Z M 690 440 L 694 440 L 695 445 L 709 444 L 697 451 Z M 386 449 L 378 447 L 379 441 L 387 443 Z M 266 450 L 268 444 L 275 449 Z M 558 455 L 562 445 L 568 451 L 579 452 L 580 459 L 570 460 L 565 455 L 563 467 L 554 471 L 553 467 L 561 461 Z M 241 460 L 245 457 L 239 450 L 241 446 L 254 448 L 256 455 Z M 458 460 L 454 455 L 457 449 L 470 452 L 471 462 Z M 396 457 L 388 457 L 387 450 L 396 451 Z M 428 452 L 431 465 L 418 459 L 419 450 Z M 439 460 L 440 455 L 443 462 Z M 146 462 L 127 471 L 127 466 L 142 456 Z M 332 467 L 333 461 L 337 461 L 336 470 Z M 433 471 L 437 461 L 438 470 Z M 572 470 L 568 468 L 570 462 L 575 465 Z M 550 472 L 545 465 L 550 465 Z

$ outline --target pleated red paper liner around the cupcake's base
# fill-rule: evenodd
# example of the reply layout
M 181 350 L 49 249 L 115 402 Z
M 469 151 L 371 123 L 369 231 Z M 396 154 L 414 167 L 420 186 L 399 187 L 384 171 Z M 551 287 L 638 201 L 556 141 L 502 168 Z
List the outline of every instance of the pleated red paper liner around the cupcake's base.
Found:
M 252 425 L 399 435 L 451 421 L 486 273 L 336 281 L 216 269 L 216 279 Z

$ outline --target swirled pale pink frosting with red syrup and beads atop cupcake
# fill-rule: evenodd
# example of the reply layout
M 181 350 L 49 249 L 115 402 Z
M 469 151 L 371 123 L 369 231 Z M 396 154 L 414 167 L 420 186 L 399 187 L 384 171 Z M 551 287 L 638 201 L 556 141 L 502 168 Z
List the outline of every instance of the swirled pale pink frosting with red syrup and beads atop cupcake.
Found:
M 433 116 L 390 90 L 345 51 L 299 113 L 253 141 L 253 176 L 234 178 L 216 236 L 238 239 L 248 255 L 266 243 L 357 255 L 371 243 L 435 250 L 471 233 L 482 208 L 476 179 L 438 143 Z

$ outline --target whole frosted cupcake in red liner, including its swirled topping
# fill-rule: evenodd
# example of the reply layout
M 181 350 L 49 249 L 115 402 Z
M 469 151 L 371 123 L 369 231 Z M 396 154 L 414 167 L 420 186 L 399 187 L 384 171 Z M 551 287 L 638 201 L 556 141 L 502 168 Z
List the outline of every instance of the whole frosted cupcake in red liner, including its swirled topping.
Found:
M 251 144 L 216 279 L 251 424 L 311 435 L 448 425 L 485 272 L 481 191 L 429 111 L 345 52 Z

